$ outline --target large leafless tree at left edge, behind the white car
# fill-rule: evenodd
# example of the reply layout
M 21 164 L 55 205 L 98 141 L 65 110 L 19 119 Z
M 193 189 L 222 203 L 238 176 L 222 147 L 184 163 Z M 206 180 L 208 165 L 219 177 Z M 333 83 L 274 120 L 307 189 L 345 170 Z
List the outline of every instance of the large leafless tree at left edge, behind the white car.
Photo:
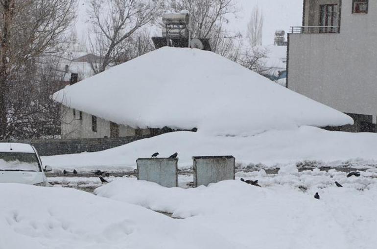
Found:
M 67 43 L 75 3 L 0 0 L 0 140 L 28 136 L 46 113 L 50 103 L 42 100 L 49 93 L 43 90 L 38 62 Z

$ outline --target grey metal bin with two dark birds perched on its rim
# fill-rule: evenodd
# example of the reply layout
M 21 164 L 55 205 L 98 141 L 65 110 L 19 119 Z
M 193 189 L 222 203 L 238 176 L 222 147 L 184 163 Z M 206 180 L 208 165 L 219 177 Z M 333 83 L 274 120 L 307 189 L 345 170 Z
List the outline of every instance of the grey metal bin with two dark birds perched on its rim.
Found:
M 164 187 L 178 187 L 177 158 L 139 158 L 138 180 L 157 183 Z

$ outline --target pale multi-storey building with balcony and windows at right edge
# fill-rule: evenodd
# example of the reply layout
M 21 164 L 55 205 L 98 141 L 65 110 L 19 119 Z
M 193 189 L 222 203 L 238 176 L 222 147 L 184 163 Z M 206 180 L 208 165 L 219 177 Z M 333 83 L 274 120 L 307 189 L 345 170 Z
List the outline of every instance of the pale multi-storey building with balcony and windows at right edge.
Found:
M 288 37 L 287 87 L 376 131 L 377 0 L 304 0 Z

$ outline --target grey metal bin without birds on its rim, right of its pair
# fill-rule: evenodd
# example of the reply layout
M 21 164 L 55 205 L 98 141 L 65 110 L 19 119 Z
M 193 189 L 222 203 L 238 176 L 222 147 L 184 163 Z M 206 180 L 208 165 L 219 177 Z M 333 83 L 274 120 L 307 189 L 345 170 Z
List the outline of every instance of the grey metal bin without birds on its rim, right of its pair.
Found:
M 194 187 L 235 179 L 235 158 L 233 156 L 192 157 Z

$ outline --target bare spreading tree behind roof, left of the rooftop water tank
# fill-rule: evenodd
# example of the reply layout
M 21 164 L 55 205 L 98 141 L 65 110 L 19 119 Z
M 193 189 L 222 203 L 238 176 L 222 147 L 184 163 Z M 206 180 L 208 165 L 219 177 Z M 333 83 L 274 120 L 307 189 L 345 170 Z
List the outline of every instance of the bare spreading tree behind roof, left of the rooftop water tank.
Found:
M 105 71 L 115 62 L 127 39 L 160 15 L 163 0 L 91 0 L 89 11 L 94 37 L 90 36 L 91 50 L 99 55 L 92 63 L 95 73 Z M 131 40 L 131 39 L 130 39 Z

